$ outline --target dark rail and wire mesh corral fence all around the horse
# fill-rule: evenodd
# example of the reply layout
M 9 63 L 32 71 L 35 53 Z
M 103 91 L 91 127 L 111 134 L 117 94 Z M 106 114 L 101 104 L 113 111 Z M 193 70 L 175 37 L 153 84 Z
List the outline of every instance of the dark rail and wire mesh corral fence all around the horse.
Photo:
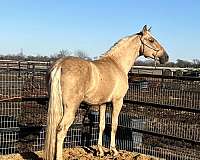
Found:
M 0 155 L 42 150 L 48 67 L 49 63 L 1 63 Z M 103 138 L 107 147 L 111 110 L 108 104 Z M 81 105 L 64 147 L 97 144 L 97 111 Z M 117 146 L 169 160 L 200 159 L 200 78 L 130 73 Z

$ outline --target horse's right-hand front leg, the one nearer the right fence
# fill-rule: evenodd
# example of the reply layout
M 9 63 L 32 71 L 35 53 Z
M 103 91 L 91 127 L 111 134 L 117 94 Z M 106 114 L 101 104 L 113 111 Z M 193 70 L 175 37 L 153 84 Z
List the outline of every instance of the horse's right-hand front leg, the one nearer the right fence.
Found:
M 113 153 L 113 156 L 118 156 L 118 151 L 116 150 L 115 144 L 115 135 L 117 131 L 118 125 L 118 116 L 121 111 L 123 98 L 113 99 L 113 110 L 112 110 L 112 125 L 111 125 L 111 142 L 110 142 L 110 151 Z

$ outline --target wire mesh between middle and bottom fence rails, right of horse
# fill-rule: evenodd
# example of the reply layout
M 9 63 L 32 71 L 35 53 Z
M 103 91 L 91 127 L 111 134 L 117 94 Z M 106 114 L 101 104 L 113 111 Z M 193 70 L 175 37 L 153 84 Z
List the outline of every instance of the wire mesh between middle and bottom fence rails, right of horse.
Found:
M 128 113 L 135 117 L 129 120 L 131 123 L 126 124 L 127 127 L 200 142 L 199 113 L 137 104 L 126 104 L 126 107 L 131 108 Z

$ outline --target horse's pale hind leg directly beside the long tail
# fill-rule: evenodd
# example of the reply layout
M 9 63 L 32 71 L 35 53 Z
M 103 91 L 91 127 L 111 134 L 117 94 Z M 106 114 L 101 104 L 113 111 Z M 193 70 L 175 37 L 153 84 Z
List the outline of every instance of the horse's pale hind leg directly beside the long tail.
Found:
M 56 160 L 62 160 L 63 154 L 63 142 L 66 133 L 74 121 L 75 113 L 79 107 L 80 103 L 69 103 L 64 105 L 63 118 L 57 127 L 57 151 Z

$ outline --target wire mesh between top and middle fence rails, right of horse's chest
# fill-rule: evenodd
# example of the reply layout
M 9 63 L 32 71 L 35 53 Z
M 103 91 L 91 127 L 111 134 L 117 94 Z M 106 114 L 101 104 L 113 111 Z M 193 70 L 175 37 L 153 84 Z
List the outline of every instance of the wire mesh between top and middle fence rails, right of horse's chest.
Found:
M 125 99 L 200 109 L 200 78 L 130 74 Z

